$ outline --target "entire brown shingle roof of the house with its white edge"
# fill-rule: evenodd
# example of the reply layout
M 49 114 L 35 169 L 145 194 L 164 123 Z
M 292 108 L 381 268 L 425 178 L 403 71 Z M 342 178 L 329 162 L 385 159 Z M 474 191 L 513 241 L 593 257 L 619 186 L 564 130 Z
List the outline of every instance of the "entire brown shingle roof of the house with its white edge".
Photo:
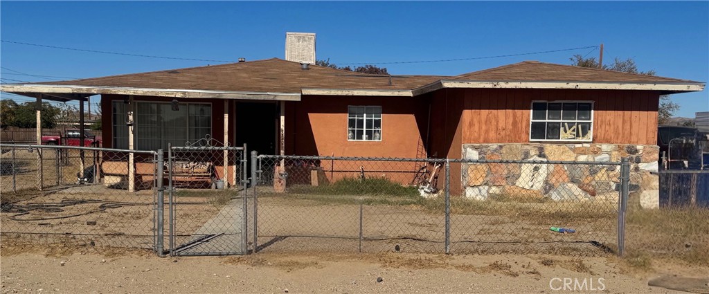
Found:
M 389 82 L 390 79 L 391 84 Z M 498 84 L 498 82 L 506 84 Z M 542 82 L 542 84 L 523 84 L 527 82 Z M 547 82 L 552 82 L 553 85 L 545 84 Z M 579 86 L 578 84 L 572 84 L 576 82 L 590 82 L 591 85 Z M 64 87 L 56 87 L 55 85 Z M 35 93 L 35 91 L 59 94 L 139 93 L 138 95 L 184 96 L 189 98 L 204 98 L 207 96 L 247 98 L 244 95 L 267 94 L 270 95 L 267 98 L 288 100 L 289 98 L 299 97 L 301 94 L 418 96 L 449 86 L 641 89 L 664 91 L 663 93 L 702 91 L 704 88 L 704 84 L 698 81 L 534 61 L 508 64 L 455 77 L 444 77 L 360 74 L 316 65 L 311 65 L 310 69 L 303 70 L 298 62 L 289 62 L 278 58 L 71 81 L 38 82 L 21 85 L 6 84 L 0 86 L 0 88 L 3 91 L 14 93 Z M 89 89 L 89 87 L 98 89 Z M 111 89 L 112 87 L 118 89 Z M 210 91 L 223 91 L 225 94 L 208 93 Z M 283 95 L 281 96 L 283 97 L 274 96 L 278 93 L 282 93 Z

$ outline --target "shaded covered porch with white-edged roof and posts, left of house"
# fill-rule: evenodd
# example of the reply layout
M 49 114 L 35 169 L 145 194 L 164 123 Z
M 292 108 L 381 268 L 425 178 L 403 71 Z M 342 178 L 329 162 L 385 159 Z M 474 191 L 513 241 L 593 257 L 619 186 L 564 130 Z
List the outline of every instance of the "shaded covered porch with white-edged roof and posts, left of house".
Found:
M 134 151 L 162 150 L 166 162 L 169 147 L 227 147 L 218 152 L 184 157 L 176 166 L 185 166 L 182 179 L 186 188 L 228 188 L 239 186 L 237 169 L 241 159 L 234 149 L 253 145 L 245 152 L 284 154 L 285 101 L 299 101 L 300 94 L 270 92 L 228 92 L 170 89 L 132 89 L 108 86 L 2 85 L 2 91 L 43 101 L 80 101 L 79 129 L 84 145 L 84 106 L 88 97 L 101 96 L 102 132 L 105 150 L 94 183 L 121 186 L 128 191 L 145 188 L 154 179 L 155 164 L 139 158 Z M 41 108 L 37 108 L 37 145 L 41 145 Z M 122 152 L 116 152 L 122 151 Z M 121 153 L 123 156 L 117 157 Z M 246 154 L 248 156 L 248 154 Z M 37 154 L 41 159 L 41 151 Z M 82 167 L 84 152 L 81 151 Z M 84 171 L 84 169 L 81 169 Z M 189 172 L 188 172 L 189 171 Z M 200 171 L 199 175 L 195 175 Z M 176 171 L 179 172 L 179 171 Z M 38 169 L 38 188 L 43 183 Z M 167 175 L 167 171 L 166 171 Z M 83 177 L 84 175 L 80 175 Z M 179 175 L 177 175 L 179 176 Z M 116 185 L 116 183 L 125 183 Z

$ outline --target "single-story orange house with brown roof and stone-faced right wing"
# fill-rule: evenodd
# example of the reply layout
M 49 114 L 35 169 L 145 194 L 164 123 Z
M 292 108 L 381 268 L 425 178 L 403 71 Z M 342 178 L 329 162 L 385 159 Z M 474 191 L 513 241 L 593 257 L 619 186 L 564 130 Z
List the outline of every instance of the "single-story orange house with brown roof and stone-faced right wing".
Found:
M 272 58 L 1 89 L 58 101 L 101 95 L 107 148 L 167 149 L 210 135 L 232 146 L 247 143 L 259 154 L 630 156 L 635 171 L 646 171 L 635 179 L 642 183 L 657 170 L 659 96 L 704 86 L 537 61 L 440 77 L 360 74 Z M 454 193 L 482 184 L 464 176 L 471 168 L 452 168 Z

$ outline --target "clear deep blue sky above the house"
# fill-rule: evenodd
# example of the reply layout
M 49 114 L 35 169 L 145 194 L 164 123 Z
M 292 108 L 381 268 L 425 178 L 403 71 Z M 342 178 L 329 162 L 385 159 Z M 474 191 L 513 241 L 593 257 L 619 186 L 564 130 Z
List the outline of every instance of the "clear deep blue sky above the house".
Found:
M 523 60 L 569 64 L 571 55 L 598 56 L 598 50 L 457 62 L 384 62 L 486 57 L 604 43 L 606 62 L 632 57 L 640 69 L 654 69 L 660 76 L 709 81 L 708 1 L 1 1 L 0 17 L 2 40 L 204 60 L 283 58 L 286 31 L 317 33 L 318 59 L 378 64 L 392 74 L 456 75 Z M 0 46 L 4 82 L 63 79 L 23 74 L 82 78 L 220 63 L 13 43 Z M 708 90 L 672 98 L 681 106 L 677 116 L 709 111 Z

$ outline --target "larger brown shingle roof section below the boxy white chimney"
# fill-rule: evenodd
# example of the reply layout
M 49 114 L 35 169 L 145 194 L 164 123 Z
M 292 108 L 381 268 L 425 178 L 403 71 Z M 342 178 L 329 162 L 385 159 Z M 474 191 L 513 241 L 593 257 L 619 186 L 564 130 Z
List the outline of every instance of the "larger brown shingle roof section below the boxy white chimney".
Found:
M 206 67 L 111 77 L 41 82 L 72 86 L 115 86 L 150 89 L 300 93 L 301 89 L 409 90 L 444 79 L 440 76 L 389 76 L 360 74 L 329 67 L 301 69 L 298 62 L 272 58 Z

